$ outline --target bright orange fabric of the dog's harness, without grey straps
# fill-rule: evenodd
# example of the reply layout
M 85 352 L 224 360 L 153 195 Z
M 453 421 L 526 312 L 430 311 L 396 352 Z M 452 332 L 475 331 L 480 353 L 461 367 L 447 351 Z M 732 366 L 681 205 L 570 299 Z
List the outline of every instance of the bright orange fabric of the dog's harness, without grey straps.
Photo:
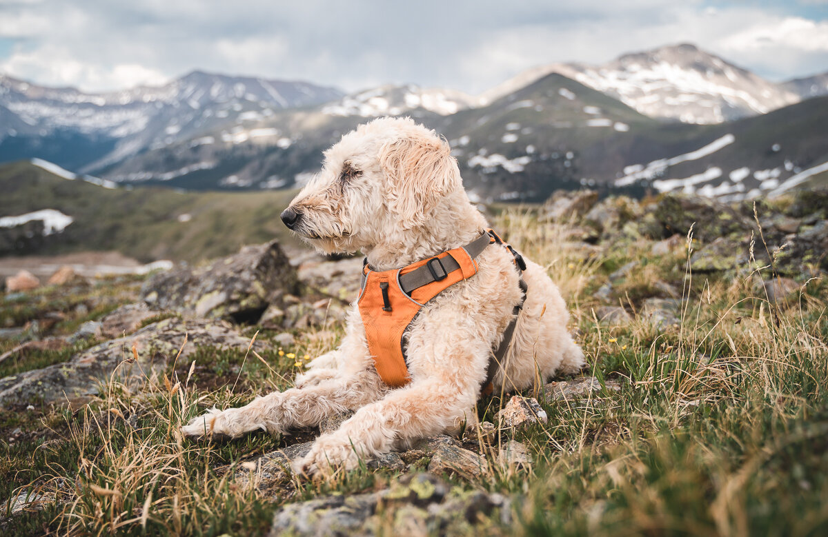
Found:
M 443 280 L 432 281 L 430 284 L 412 290 L 411 296 L 406 295 L 400 288 L 398 275 L 407 274 L 425 265 L 429 259 L 391 271 L 378 272 L 370 270 L 368 266 L 364 268 L 365 286 L 357 303 L 359 314 L 362 316 L 365 336 L 368 338 L 368 351 L 371 352 L 380 378 L 388 386 L 397 388 L 411 381 L 402 353 L 402 334 L 405 333 L 423 304 L 458 281 L 477 274 L 477 261 L 469 257 L 469 253 L 464 248 L 455 248 L 436 257 L 442 259 L 445 256 L 454 257 L 460 268 L 450 272 Z M 384 300 L 381 286 L 383 282 L 388 283 L 388 301 L 391 311 L 383 310 Z

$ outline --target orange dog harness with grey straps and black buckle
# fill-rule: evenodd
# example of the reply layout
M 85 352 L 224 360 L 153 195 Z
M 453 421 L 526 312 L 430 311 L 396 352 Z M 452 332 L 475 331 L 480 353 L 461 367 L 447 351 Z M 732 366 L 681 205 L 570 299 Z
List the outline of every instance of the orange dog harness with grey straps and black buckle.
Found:
M 368 265 L 368 258 L 363 261 L 362 289 L 357 304 L 368 338 L 368 351 L 380 378 L 388 386 L 397 388 L 411 381 L 402 338 L 416 314 L 443 290 L 477 274 L 479 266 L 474 259 L 493 242 L 502 244 L 513 253 L 519 270 L 526 269 L 520 254 L 491 229 L 465 247 L 454 248 L 399 269 L 373 271 Z M 526 284 L 523 280 L 521 289 L 525 297 Z M 493 361 L 489 362 L 487 384 L 494 376 L 494 361 L 502 362 L 508 349 L 522 304 L 521 300 L 515 307 L 515 317 L 503 334 L 503 343 L 494 353 Z

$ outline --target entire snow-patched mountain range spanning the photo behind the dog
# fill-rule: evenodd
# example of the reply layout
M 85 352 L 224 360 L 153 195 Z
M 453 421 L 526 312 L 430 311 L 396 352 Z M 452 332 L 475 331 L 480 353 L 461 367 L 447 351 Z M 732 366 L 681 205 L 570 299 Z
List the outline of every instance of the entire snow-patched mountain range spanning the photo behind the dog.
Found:
M 383 115 L 445 135 L 481 201 L 580 185 L 755 197 L 821 180 L 828 160 L 824 101 L 794 93 L 818 93 L 823 75 L 772 84 L 691 45 L 546 65 L 476 97 L 413 84 L 344 95 L 199 72 L 98 95 L 0 82 L 0 162 L 34 156 L 98 182 L 295 188 L 327 147 Z

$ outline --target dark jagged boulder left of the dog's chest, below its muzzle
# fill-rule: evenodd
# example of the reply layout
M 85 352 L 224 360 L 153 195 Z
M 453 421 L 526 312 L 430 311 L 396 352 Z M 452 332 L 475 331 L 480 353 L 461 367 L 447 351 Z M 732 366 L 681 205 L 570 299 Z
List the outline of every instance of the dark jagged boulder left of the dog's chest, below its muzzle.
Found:
M 254 323 L 271 303 L 298 289 L 296 270 L 278 242 L 243 247 L 205 266 L 180 266 L 152 276 L 143 286 L 154 308 L 209 319 Z

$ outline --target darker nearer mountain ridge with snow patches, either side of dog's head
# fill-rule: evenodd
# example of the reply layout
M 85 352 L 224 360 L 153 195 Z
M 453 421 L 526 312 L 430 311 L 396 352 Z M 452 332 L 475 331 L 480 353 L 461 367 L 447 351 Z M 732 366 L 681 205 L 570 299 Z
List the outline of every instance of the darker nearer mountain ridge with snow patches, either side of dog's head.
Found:
M 450 141 L 469 194 L 481 201 L 540 200 L 580 185 L 643 194 L 671 189 L 673 183 L 664 181 L 688 177 L 695 185 L 688 191 L 709 184 L 719 187 L 714 194 L 738 197 L 755 195 L 754 188 L 777 189 L 828 160 L 820 151 L 822 141 L 828 146 L 821 129 L 828 121 L 824 99 L 705 126 L 658 121 L 561 74 L 548 74 L 486 106 L 449 115 L 418 107 L 405 114 Z M 104 177 L 184 189 L 300 186 L 319 170 L 322 151 L 366 121 L 361 114 L 331 113 L 330 106 L 282 110 L 143 151 Z M 722 156 L 724 161 L 716 161 Z M 720 168 L 720 175 L 708 167 Z M 720 185 L 729 172 L 744 167 L 756 173 L 755 180 L 745 176 L 726 192 L 729 187 Z M 702 173 L 707 175 L 694 177 Z M 744 170 L 734 176 L 739 174 Z

